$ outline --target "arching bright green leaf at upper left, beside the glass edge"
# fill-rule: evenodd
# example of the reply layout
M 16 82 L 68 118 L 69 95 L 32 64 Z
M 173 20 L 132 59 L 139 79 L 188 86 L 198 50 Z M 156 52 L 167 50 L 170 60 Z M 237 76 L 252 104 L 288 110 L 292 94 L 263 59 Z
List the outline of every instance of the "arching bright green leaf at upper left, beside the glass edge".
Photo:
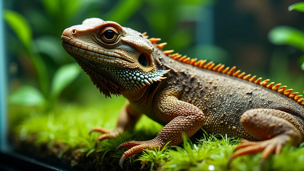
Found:
M 26 18 L 20 13 L 8 9 L 4 10 L 3 18 L 16 33 L 24 46 L 29 47 L 32 41 L 32 29 Z

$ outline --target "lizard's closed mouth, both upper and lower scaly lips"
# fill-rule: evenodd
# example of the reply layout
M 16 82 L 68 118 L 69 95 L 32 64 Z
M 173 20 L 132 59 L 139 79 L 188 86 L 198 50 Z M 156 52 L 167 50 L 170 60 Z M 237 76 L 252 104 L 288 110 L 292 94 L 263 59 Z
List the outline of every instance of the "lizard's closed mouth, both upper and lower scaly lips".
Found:
M 78 54 L 82 54 L 83 56 L 96 61 L 107 62 L 122 66 L 124 65 L 123 63 L 133 63 L 120 54 L 110 51 L 104 51 L 102 49 L 97 49 L 88 45 L 81 44 L 64 35 L 61 36 L 61 40 L 63 41 L 62 46 L 66 50 L 77 52 Z

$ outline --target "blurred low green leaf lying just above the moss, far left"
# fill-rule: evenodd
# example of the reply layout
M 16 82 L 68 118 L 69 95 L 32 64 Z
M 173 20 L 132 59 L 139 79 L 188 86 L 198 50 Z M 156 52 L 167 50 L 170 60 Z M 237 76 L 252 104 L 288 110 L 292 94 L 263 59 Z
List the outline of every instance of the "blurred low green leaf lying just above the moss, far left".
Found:
M 24 85 L 9 96 L 9 103 L 24 106 L 42 106 L 46 102 L 42 93 L 33 86 Z

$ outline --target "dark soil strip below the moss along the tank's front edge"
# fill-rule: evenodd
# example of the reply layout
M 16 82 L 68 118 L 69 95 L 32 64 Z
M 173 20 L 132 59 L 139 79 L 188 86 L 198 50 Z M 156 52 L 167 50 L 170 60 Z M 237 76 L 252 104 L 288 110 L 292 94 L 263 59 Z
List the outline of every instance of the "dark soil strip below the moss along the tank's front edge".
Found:
M 60 152 L 68 149 L 64 143 L 56 142 L 51 147 L 47 147 L 47 144 L 36 145 L 34 136 L 26 141 L 21 141 L 19 136 L 11 136 L 11 141 L 16 152 L 55 167 L 67 170 L 122 170 L 119 167 L 119 158 L 110 157 L 115 152 L 108 152 L 101 160 L 102 152 L 93 152 L 86 157 L 86 152 L 69 149 L 59 159 Z M 135 157 L 131 159 L 131 162 L 130 159 L 126 159 L 123 170 L 150 170 L 150 162 L 134 161 L 134 159 Z

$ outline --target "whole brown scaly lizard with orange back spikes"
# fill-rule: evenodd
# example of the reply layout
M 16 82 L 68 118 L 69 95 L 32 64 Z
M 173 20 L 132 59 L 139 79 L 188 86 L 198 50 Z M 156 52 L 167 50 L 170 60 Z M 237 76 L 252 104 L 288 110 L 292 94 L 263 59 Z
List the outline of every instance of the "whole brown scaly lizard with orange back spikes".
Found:
M 292 89 L 250 78 L 235 67 L 170 54 L 173 51 L 161 50 L 166 43 L 146 37 L 98 18 L 67 28 L 61 37 L 64 49 L 105 96 L 128 99 L 115 130 L 92 129 L 103 133 L 97 142 L 134 127 L 142 113 L 165 125 L 153 140 L 119 145 L 116 151 L 130 148 L 123 153 L 121 167 L 131 155 L 162 148 L 168 141 L 178 145 L 183 132 L 191 137 L 201 127 L 207 133 L 244 138 L 230 160 L 263 152 L 264 162 L 287 142 L 304 141 L 304 103 Z

